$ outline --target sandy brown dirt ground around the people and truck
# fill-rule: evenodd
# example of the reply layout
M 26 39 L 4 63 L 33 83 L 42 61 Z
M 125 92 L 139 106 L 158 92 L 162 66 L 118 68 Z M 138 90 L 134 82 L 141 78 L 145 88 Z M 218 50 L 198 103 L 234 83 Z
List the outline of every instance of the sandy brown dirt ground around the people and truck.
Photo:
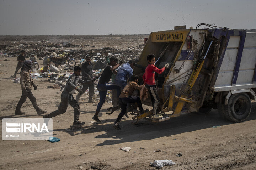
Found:
M 140 41 L 137 39 L 134 46 L 144 42 L 142 37 Z M 119 48 L 130 45 L 112 44 Z M 14 115 L 22 91 L 20 84 L 13 83 L 10 78 L 16 68 L 16 57 L 8 59 L 10 61 L 3 61 L 5 57 L 0 57 L 0 118 L 42 118 L 36 115 L 28 99 L 22 107 L 26 114 Z M 42 60 L 38 62 L 42 66 Z M 47 89 L 53 83 L 43 78 L 35 84 L 38 89 L 32 92 L 39 107 L 48 113 L 57 109 L 60 89 Z M 87 94 L 80 98 L 80 121 L 85 121 L 83 129 L 66 131 L 73 123 L 71 106 L 65 114 L 53 118 L 53 136 L 60 138 L 59 142 L 1 140 L 0 169 L 154 170 L 150 162 L 163 159 L 176 164 L 162 169 L 256 169 L 255 102 L 249 119 L 243 123 L 222 120 L 217 110 L 206 115 L 183 114 L 160 123 L 140 120 L 137 126 L 132 124 L 132 115 L 129 115 L 122 119 L 122 130 L 118 131 L 113 128 L 113 122 L 119 111 L 105 114 L 112 106 L 105 103 L 100 116 L 102 123 L 92 122 L 97 106 L 87 103 L 87 98 Z M 1 121 L 0 124 L 2 126 Z M 212 128 L 216 125 L 221 127 Z M 120 147 L 132 149 L 124 152 L 118 149 Z M 157 149 L 161 152 L 153 152 Z M 178 157 L 178 153 L 182 156 Z

